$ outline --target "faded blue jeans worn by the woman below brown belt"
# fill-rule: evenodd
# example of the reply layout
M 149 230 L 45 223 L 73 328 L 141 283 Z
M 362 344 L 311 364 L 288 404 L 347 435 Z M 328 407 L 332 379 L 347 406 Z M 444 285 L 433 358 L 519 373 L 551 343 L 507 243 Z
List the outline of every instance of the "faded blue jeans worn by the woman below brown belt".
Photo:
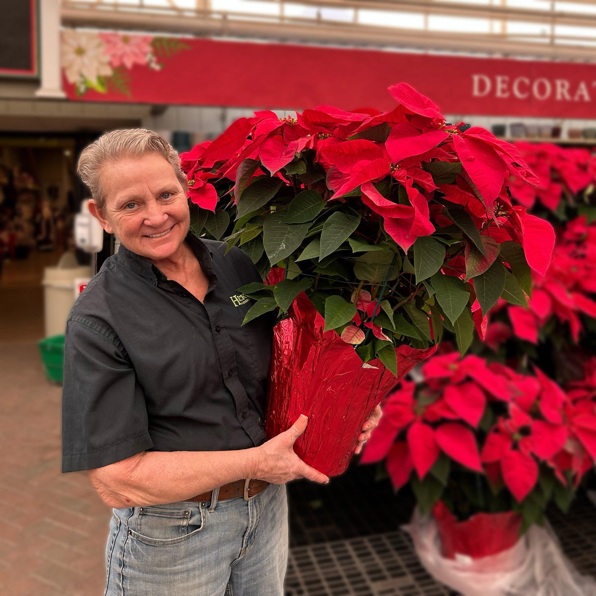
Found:
M 250 501 L 114 509 L 106 596 L 282 596 L 285 485 Z

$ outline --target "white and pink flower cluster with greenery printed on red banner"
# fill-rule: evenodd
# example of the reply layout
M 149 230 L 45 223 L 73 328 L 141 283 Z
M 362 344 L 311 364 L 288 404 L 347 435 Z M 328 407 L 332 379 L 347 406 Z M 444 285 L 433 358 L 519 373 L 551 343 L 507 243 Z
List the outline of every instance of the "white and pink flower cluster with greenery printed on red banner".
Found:
M 131 70 L 160 70 L 167 58 L 190 46 L 179 38 L 64 29 L 61 61 L 77 96 L 88 91 L 132 96 Z

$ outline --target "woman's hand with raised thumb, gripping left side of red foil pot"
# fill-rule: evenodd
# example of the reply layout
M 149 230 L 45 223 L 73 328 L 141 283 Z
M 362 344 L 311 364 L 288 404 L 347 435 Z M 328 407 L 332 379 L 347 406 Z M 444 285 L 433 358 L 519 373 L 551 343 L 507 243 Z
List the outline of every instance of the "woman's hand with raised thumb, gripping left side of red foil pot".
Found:
M 294 424 L 284 433 L 269 439 L 255 448 L 253 478 L 266 480 L 272 484 L 284 484 L 290 480 L 306 478 L 313 482 L 327 484 L 325 474 L 305 464 L 295 453 L 294 443 L 305 431 L 308 417 L 301 414 Z

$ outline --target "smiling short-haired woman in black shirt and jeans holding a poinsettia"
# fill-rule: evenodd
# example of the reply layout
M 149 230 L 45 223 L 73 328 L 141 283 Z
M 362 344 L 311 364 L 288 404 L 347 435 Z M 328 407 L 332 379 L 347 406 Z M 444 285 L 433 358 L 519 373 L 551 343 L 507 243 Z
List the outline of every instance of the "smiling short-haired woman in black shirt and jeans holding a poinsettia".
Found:
M 260 281 L 241 250 L 195 237 L 178 155 L 151 131 L 89 145 L 79 175 L 119 253 L 66 331 L 63 471 L 90 470 L 114 508 L 106 594 L 283 594 L 284 483 L 328 478 L 265 439 L 271 322 L 242 326 Z M 365 423 L 361 448 L 379 412 Z

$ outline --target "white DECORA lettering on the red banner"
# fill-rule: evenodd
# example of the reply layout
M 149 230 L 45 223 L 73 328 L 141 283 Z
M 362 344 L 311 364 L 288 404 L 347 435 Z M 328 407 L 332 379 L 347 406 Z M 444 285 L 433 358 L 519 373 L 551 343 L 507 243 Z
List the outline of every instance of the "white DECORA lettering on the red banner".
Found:
M 472 97 L 495 97 L 506 100 L 515 97 L 519 100 L 532 98 L 538 101 L 573 101 L 590 103 L 590 89 L 596 87 L 596 80 L 572 83 L 568 79 L 530 79 L 509 75 L 472 75 Z

